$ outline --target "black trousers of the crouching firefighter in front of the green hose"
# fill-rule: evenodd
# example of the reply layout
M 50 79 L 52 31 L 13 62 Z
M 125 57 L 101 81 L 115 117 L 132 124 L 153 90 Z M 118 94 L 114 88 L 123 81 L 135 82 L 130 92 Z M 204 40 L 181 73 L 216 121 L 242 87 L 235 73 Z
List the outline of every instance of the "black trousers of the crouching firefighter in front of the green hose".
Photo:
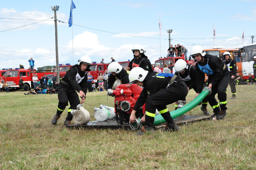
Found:
M 177 80 L 177 78 L 175 80 Z M 172 104 L 187 96 L 187 85 L 183 81 L 174 83 L 168 88 L 162 89 L 147 98 L 145 115 L 146 126 L 154 125 L 156 109 L 167 123 L 173 123 L 173 119 L 166 105 Z

